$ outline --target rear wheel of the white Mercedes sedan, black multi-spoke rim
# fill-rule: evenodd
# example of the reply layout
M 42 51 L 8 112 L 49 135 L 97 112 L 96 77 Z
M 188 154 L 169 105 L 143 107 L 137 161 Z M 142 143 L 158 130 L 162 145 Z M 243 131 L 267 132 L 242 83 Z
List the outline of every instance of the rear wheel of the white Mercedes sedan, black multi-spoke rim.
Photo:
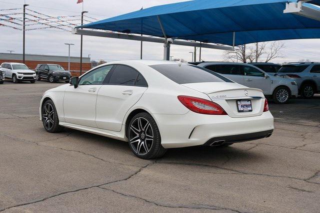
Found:
M 138 158 L 160 158 L 166 152 L 161 145 L 159 129 L 148 113 L 138 113 L 131 119 L 127 128 L 127 137 L 131 151 Z

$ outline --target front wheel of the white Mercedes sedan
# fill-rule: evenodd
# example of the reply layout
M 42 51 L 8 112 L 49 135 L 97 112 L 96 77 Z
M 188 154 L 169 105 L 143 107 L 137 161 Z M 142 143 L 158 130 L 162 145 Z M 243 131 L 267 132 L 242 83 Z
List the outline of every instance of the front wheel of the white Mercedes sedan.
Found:
M 51 100 L 45 101 L 42 105 L 41 120 L 45 131 L 49 133 L 61 132 L 63 130 L 63 127 L 59 125 L 59 118 Z

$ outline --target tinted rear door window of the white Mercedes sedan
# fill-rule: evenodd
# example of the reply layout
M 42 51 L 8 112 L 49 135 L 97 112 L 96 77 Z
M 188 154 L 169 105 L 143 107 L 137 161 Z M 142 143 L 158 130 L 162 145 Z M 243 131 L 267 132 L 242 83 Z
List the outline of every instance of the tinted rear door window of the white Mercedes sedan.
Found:
M 124 65 L 116 65 L 111 74 L 108 84 L 134 85 L 135 80 L 138 77 L 138 74 L 139 73 L 131 67 Z

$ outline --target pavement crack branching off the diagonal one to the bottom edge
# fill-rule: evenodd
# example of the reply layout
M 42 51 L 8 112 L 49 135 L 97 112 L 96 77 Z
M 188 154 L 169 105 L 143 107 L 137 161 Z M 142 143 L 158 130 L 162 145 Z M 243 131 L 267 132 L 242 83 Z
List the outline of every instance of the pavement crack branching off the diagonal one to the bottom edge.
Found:
M 199 204 L 194 204 L 194 206 L 160 204 L 160 203 L 156 203 L 156 202 L 153 202 L 153 201 L 150 201 L 150 200 L 146 200 L 146 199 L 144 199 L 144 198 L 140 198 L 140 197 L 137 197 L 137 196 L 128 195 L 128 194 L 123 194 L 123 193 L 120 193 L 120 192 L 117 192 L 117 191 L 114 191 L 114 190 L 111 190 L 111 189 L 107 189 L 107 188 L 103 188 L 103 187 L 98 187 L 98 188 L 103 189 L 103 190 L 106 190 L 106 191 L 111 191 L 111 192 L 113 192 L 113 193 L 116 193 L 116 194 L 121 195 L 121 196 L 124 196 L 124 197 L 135 198 L 135 199 L 144 201 L 144 202 L 146 202 L 146 203 L 153 204 L 153 205 L 158 206 L 158 207 L 175 208 L 175 209 L 178 208 L 178 209 L 230 210 L 230 211 L 233 211 L 233 212 L 240 213 L 240 212 L 237 211 L 237 210 L 232 210 L 232 209 L 227 209 L 227 208 L 221 208 L 221 207 L 216 207 L 216 206 L 210 206 L 210 205 L 202 205 L 202 204 L 200 204 L 200 205 L 199 205 Z

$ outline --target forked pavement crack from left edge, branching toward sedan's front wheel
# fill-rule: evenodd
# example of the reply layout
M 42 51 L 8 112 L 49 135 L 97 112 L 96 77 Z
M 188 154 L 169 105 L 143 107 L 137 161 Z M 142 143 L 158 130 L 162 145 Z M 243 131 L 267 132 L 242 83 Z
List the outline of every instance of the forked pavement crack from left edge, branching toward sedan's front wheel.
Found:
M 48 145 L 44 145 L 44 144 L 39 144 L 41 142 L 47 142 L 47 141 L 54 141 L 54 140 L 58 140 L 58 139 L 61 139 L 61 138 L 66 138 L 70 135 L 71 133 L 68 133 L 68 135 L 66 136 L 63 136 L 63 137 L 60 137 L 60 138 L 56 138 L 56 139 L 53 139 L 53 140 L 46 140 L 46 141 L 39 141 L 39 142 L 34 142 L 34 141 L 28 141 L 28 140 L 24 140 L 24 139 L 20 139 L 20 138 L 15 138 L 15 137 L 12 137 L 12 136 L 9 136 L 9 135 L 5 135 L 3 133 L 0 133 L 0 135 L 3 135 L 3 136 L 6 136 L 8 138 L 11 138 L 13 140 L 18 140 L 18 141 L 21 141 L 21 142 L 27 142 L 27 143 L 32 143 L 32 144 L 35 144 L 37 146 L 42 146 L 42 147 L 48 147 L 48 148 L 53 148 L 53 149 L 59 149 L 59 150 L 63 150 L 63 151 L 67 151 L 67 152 L 77 152 L 77 153 L 80 153 L 80 154 L 83 154 L 83 155 L 86 155 L 86 156 L 90 156 L 92 158 L 95 158 L 97 160 L 100 160 L 100 161 L 103 161 L 105 163 L 110 163 L 110 164 L 117 164 L 117 165 L 122 165 L 122 166 L 129 166 L 129 167 L 138 167 L 138 166 L 133 166 L 133 165 L 128 165 L 128 164 L 122 164 L 122 163 L 118 163 L 118 162 L 112 162 L 112 161 L 107 161 L 107 160 L 104 160 L 102 158 L 99 158 L 99 157 L 96 157 L 94 155 L 91 155 L 91 154 L 88 154 L 88 153 L 85 153 L 85 152 L 81 152 L 81 151 L 78 151 L 78 150 L 68 150 L 68 149 L 63 149 L 61 147 L 54 147 L 54 146 L 48 146 Z

